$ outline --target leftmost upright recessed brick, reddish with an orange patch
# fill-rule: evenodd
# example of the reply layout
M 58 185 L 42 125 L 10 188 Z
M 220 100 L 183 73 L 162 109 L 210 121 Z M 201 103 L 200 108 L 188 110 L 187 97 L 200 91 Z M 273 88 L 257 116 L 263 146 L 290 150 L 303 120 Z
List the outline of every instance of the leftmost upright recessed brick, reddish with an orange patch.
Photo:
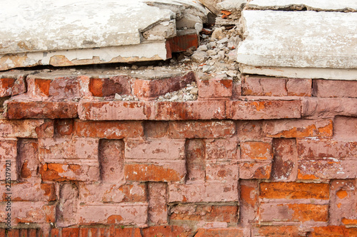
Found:
M 17 156 L 19 180 L 36 181 L 36 179 L 39 179 L 39 145 L 37 140 L 19 139 L 17 150 L 19 152 Z

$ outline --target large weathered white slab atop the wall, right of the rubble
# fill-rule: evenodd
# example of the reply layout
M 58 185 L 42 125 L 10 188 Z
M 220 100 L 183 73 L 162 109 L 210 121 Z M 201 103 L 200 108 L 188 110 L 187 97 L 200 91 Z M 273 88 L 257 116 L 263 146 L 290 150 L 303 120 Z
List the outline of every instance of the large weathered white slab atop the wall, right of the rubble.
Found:
M 242 13 L 245 40 L 238 46 L 238 63 L 273 68 L 357 68 L 357 13 Z

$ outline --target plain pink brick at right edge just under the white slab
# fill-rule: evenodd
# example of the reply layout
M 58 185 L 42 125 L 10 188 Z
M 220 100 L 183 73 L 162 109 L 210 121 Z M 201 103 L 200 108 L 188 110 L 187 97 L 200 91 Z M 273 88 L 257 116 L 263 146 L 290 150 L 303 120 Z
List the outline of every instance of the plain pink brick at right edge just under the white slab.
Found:
M 313 80 L 316 97 L 357 98 L 357 82 L 354 80 Z

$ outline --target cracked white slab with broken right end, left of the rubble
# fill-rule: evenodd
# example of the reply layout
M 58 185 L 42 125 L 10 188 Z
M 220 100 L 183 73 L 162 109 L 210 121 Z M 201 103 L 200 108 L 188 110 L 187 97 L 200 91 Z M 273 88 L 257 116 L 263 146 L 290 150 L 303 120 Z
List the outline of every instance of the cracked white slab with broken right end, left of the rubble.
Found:
M 201 31 L 194 0 L 0 0 L 0 70 L 166 60 L 166 42 Z M 194 17 L 193 17 L 194 16 Z M 177 26 L 185 20 L 189 26 Z

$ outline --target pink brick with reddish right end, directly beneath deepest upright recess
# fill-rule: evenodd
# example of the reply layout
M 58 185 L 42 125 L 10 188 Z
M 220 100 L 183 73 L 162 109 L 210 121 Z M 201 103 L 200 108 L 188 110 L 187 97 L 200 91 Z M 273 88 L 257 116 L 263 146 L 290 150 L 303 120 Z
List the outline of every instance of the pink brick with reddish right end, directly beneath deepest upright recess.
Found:
M 146 184 L 84 184 L 79 183 L 79 199 L 86 204 L 147 201 Z

